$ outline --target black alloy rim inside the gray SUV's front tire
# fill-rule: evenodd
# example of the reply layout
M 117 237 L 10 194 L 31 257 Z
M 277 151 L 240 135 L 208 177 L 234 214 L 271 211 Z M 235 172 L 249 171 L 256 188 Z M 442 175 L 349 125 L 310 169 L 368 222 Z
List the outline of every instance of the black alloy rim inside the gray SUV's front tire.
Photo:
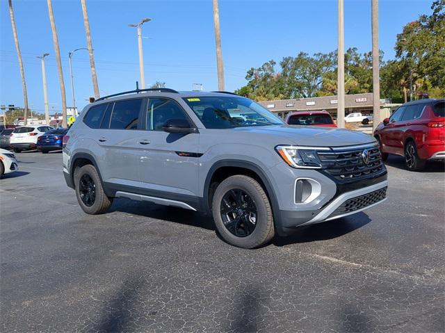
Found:
M 225 193 L 220 215 L 226 229 L 237 237 L 249 236 L 257 226 L 257 206 L 248 193 L 238 188 Z

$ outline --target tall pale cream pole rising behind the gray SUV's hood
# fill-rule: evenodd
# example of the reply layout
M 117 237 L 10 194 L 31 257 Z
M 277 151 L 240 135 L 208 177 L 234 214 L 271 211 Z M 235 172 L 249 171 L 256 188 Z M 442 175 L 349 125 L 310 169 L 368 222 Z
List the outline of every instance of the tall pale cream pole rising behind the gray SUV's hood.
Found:
M 343 0 L 338 0 L 338 45 L 337 45 L 337 127 L 345 127 L 345 40 Z

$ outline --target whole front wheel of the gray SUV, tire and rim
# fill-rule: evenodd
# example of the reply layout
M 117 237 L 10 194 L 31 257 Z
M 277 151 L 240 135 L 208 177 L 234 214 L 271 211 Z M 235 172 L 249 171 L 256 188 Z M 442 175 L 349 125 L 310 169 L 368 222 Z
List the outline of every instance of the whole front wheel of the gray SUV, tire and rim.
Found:
M 213 220 L 227 243 L 251 249 L 275 235 L 273 213 L 266 192 L 252 177 L 228 177 L 216 188 Z

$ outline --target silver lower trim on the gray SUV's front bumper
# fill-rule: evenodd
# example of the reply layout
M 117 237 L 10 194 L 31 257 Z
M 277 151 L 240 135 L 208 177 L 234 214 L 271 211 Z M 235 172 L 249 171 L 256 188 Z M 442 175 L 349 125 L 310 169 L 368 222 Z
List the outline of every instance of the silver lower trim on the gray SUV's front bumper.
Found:
M 339 195 L 337 198 L 335 198 L 330 204 L 328 204 L 323 211 L 318 213 L 312 220 L 309 220 L 308 222 L 303 223 L 302 225 L 312 225 L 314 223 L 323 222 L 327 220 L 334 220 L 335 218 L 341 218 L 343 216 L 348 216 L 351 214 L 358 213 L 359 211 L 364 211 L 365 209 L 369 209 L 372 206 L 375 206 L 376 204 L 380 204 L 386 200 L 380 200 L 379 202 L 375 202 L 375 204 L 370 204 L 369 206 L 366 206 L 362 209 L 357 209 L 357 211 L 352 211 L 350 213 L 343 214 L 341 216 L 334 216 L 332 218 L 329 218 L 329 216 L 339 207 L 343 202 L 346 200 L 352 199 L 353 197 L 359 197 L 360 195 L 364 195 L 366 193 L 374 192 L 375 190 L 380 190 L 380 188 L 384 188 L 385 186 L 388 186 L 388 181 L 382 181 L 378 184 L 374 184 L 371 186 L 367 186 L 365 188 L 359 188 L 358 190 L 351 190 L 350 192 L 343 193 L 342 195 Z

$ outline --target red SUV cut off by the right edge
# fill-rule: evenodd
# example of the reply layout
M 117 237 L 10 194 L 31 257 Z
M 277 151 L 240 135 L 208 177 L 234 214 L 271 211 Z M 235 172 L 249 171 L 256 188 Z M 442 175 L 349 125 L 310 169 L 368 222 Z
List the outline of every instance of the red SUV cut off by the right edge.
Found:
M 420 171 L 429 159 L 445 159 L 445 99 L 421 99 L 400 106 L 374 131 L 382 159 L 405 156 L 408 170 Z

